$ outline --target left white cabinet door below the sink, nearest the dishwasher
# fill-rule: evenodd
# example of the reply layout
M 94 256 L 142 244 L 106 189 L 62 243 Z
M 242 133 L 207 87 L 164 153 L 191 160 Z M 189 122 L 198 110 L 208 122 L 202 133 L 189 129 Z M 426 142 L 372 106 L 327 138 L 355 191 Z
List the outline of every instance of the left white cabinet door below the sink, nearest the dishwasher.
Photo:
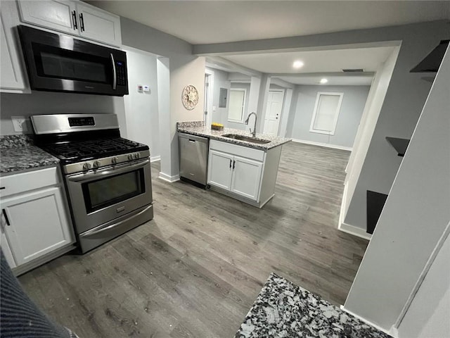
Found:
M 208 184 L 229 190 L 231 188 L 231 175 L 233 174 L 233 156 L 210 150 L 209 160 Z

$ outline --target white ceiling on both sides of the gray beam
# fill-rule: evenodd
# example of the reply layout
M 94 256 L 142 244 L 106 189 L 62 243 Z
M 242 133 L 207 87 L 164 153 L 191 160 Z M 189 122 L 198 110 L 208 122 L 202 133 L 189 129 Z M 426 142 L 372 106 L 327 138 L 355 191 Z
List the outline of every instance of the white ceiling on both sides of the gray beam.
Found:
M 86 1 L 125 18 L 166 32 L 191 44 L 214 44 L 403 25 L 450 18 L 450 1 Z M 224 55 L 262 73 L 314 73 L 284 77 L 294 84 L 318 82 L 321 74 L 343 68 L 374 71 L 392 47 Z M 294 70 L 300 59 L 304 67 Z M 230 68 L 229 71 L 236 71 Z M 319 74 L 318 74 L 319 73 Z M 280 74 L 281 75 L 281 74 Z M 311 74 L 312 75 L 312 74 Z M 328 74 L 330 75 L 330 74 Z M 339 77 L 328 84 L 361 84 L 364 79 Z M 367 83 L 368 79 L 365 80 Z

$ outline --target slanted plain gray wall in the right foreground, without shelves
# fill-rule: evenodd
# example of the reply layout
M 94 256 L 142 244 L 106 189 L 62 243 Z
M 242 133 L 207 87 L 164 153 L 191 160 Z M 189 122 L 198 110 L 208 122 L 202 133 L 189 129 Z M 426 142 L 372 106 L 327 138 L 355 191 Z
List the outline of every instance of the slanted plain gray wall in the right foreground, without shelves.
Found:
M 449 79 L 447 51 L 345 301 L 347 310 L 386 330 L 399 318 L 449 224 Z M 449 273 L 448 257 L 444 272 Z M 436 288 L 448 287 L 444 282 L 437 281 Z

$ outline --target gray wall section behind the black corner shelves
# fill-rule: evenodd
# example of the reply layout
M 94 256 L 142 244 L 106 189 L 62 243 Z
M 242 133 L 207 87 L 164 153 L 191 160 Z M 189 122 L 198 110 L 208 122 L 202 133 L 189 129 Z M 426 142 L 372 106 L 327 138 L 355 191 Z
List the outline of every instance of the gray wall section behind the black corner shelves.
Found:
M 402 36 L 399 56 L 345 218 L 346 224 L 362 229 L 366 229 L 367 190 L 388 194 L 401 163 L 401 158 L 385 137 L 411 138 L 430 92 L 431 83 L 423 80 L 424 75 L 409 73 L 409 70 L 428 55 L 441 39 L 450 38 L 446 23 L 399 27 L 402 27 L 399 30 Z

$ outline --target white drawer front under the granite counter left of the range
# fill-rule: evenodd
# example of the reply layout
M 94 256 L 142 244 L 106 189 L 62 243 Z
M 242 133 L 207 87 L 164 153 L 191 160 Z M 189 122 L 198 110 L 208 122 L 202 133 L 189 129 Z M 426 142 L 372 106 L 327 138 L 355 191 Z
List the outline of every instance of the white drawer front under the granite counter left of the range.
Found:
M 8 175 L 0 177 L 0 196 L 19 194 L 58 184 L 58 182 L 58 168 L 56 167 Z

